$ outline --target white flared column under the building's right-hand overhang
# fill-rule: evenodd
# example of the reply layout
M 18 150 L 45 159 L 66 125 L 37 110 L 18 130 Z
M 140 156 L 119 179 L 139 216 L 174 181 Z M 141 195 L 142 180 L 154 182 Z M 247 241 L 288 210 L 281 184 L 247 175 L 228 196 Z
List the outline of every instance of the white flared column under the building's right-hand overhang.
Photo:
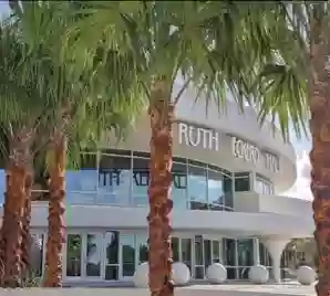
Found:
M 272 274 L 276 283 L 280 283 L 280 262 L 286 245 L 290 242 L 288 237 L 262 239 L 262 244 L 267 247 L 272 260 Z

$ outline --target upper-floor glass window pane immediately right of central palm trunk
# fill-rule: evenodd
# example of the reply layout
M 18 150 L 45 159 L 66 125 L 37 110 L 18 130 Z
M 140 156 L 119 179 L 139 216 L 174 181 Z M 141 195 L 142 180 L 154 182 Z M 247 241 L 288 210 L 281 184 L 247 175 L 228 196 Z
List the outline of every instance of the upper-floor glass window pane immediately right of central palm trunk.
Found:
M 174 210 L 187 209 L 187 166 L 183 163 L 173 163 L 172 167 L 172 191 Z

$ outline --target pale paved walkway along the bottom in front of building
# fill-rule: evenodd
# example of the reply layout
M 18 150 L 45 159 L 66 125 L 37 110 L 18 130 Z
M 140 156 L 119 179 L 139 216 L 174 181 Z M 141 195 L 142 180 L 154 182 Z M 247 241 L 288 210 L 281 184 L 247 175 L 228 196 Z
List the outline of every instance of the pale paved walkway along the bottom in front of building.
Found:
M 147 289 L 138 288 L 62 288 L 62 289 L 16 289 L 1 290 L 11 296 L 148 296 Z M 175 296 L 314 296 L 313 286 L 287 285 L 194 285 L 176 288 Z

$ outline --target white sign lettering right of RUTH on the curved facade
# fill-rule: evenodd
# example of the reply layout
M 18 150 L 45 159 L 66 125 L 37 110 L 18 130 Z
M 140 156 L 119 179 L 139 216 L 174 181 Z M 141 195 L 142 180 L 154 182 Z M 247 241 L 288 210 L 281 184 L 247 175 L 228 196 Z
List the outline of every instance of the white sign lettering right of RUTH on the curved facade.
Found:
M 244 159 L 245 161 L 251 161 L 254 165 L 258 165 L 261 157 L 265 157 L 265 166 L 272 172 L 279 171 L 279 158 L 268 151 L 261 152 L 260 149 L 238 137 L 231 137 L 231 151 L 236 158 Z

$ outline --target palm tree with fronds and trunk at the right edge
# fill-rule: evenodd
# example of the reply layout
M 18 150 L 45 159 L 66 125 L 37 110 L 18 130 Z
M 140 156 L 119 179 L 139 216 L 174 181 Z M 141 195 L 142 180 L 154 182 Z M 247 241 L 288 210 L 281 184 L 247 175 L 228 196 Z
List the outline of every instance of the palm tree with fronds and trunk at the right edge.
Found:
M 319 296 L 326 296 L 330 290 L 330 105 L 327 97 L 330 91 L 330 2 L 277 3 L 265 9 L 265 13 L 277 59 L 268 60 L 267 65 L 260 67 L 256 80 L 260 92 L 256 93 L 255 103 L 261 119 L 266 115 L 279 119 L 285 138 L 289 134 L 289 119 L 296 133 L 305 128 L 301 120 L 309 119 L 310 188 L 319 253 L 316 290 Z M 297 112 L 286 109 L 288 104 L 296 105 Z

